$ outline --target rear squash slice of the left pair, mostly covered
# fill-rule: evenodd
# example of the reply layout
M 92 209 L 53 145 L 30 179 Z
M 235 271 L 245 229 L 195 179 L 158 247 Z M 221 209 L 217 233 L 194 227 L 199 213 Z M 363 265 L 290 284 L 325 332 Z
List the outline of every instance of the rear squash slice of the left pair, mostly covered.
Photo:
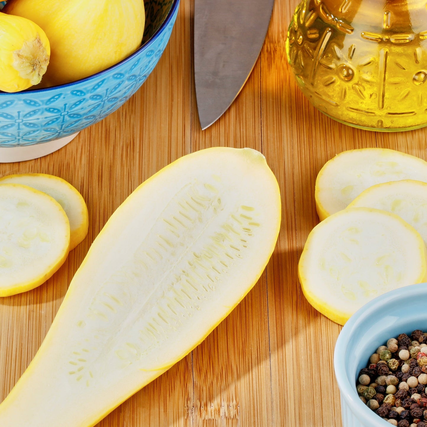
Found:
M 82 195 L 62 178 L 46 173 L 6 175 L 0 184 L 14 182 L 28 185 L 53 197 L 64 209 L 70 221 L 70 251 L 88 234 L 88 207 Z

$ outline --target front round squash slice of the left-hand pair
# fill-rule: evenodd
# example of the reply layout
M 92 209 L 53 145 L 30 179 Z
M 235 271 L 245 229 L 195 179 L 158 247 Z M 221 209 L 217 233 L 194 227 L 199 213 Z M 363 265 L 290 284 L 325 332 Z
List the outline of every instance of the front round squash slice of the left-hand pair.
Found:
M 37 287 L 64 263 L 70 225 L 58 202 L 20 184 L 0 184 L 0 296 Z

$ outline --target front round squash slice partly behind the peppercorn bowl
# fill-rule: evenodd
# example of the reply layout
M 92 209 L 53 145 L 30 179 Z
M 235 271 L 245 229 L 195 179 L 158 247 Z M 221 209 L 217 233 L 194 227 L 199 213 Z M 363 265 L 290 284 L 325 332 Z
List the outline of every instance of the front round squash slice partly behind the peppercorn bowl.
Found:
M 427 279 L 420 236 L 394 213 L 348 208 L 310 232 L 298 263 L 308 302 L 340 325 L 372 298 Z

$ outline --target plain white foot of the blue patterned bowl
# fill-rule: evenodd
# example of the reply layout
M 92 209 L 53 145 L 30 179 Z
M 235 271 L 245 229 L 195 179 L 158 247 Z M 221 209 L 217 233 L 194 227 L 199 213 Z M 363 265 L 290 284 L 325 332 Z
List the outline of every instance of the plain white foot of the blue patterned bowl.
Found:
M 22 147 L 0 147 L 0 163 L 12 163 L 43 157 L 67 145 L 78 133 L 40 144 Z

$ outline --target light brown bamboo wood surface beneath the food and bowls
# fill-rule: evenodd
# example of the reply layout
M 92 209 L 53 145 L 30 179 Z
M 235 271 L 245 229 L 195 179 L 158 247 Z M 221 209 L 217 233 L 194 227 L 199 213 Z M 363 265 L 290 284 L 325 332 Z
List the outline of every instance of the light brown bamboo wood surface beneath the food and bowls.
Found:
M 296 4 L 275 1 L 249 80 L 207 130 L 199 126 L 194 90 L 194 4 L 181 0 L 164 55 L 125 105 L 51 155 L 0 164 L 0 176 L 39 172 L 66 179 L 84 196 L 90 219 L 84 242 L 47 283 L 0 299 L 0 400 L 35 355 L 74 272 L 126 196 L 182 155 L 210 146 L 247 146 L 263 152 L 281 188 L 281 232 L 266 271 L 199 347 L 98 427 L 341 425 L 333 375 L 340 327 L 307 303 L 297 277 L 304 242 L 318 222 L 316 174 L 333 155 L 352 148 L 392 148 L 427 160 L 427 128 L 368 132 L 315 110 L 286 61 L 287 26 Z

